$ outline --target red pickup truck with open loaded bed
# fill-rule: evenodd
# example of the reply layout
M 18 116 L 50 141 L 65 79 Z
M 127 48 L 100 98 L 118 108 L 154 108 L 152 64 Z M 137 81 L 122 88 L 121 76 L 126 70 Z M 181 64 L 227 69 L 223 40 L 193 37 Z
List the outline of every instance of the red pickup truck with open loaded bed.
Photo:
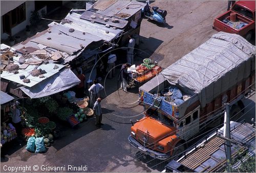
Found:
M 214 20 L 212 29 L 235 33 L 250 40 L 255 34 L 255 1 L 238 1 Z

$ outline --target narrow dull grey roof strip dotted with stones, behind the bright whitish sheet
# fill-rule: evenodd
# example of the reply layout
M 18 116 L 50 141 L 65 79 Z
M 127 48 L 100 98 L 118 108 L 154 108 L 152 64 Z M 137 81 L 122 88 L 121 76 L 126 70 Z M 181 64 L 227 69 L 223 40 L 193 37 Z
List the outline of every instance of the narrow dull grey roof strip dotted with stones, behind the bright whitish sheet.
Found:
M 94 18 L 94 19 L 91 18 L 91 15 L 95 15 L 96 18 Z M 117 27 L 117 28 L 124 28 L 128 24 L 128 21 L 124 20 L 124 19 L 119 19 L 118 23 L 113 23 L 111 21 L 111 18 L 108 17 L 109 20 L 104 21 L 103 19 L 100 19 L 100 16 L 102 18 L 107 17 L 107 16 L 104 16 L 102 14 L 98 14 L 98 13 L 95 13 L 95 12 L 92 12 L 92 11 L 84 11 L 80 18 L 86 19 L 86 20 L 89 20 L 89 21 L 95 21 L 95 22 L 101 23 L 103 25 L 109 24 L 110 26 L 114 26 L 114 27 Z

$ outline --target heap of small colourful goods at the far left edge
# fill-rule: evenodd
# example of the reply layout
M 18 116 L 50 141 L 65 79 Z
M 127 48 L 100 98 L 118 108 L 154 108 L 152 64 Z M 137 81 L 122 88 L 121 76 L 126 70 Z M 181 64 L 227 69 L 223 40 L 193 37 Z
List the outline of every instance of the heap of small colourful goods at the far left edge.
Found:
M 6 142 L 10 142 L 11 140 L 15 139 L 17 137 L 16 129 L 15 127 L 9 123 L 8 126 L 6 123 L 2 123 L 1 126 L 1 144 L 4 144 Z

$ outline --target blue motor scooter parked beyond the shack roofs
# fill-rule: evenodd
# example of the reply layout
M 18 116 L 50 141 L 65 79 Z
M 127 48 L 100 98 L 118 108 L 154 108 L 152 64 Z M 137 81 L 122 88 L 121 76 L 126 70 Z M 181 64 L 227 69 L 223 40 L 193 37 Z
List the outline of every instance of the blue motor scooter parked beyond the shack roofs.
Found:
M 146 1 L 146 6 L 142 8 L 142 12 L 144 13 L 145 17 L 151 20 L 155 20 L 160 24 L 164 24 L 167 11 L 161 10 L 158 7 L 152 7 L 153 11 L 151 11 L 150 9 L 151 9 L 150 1 Z

